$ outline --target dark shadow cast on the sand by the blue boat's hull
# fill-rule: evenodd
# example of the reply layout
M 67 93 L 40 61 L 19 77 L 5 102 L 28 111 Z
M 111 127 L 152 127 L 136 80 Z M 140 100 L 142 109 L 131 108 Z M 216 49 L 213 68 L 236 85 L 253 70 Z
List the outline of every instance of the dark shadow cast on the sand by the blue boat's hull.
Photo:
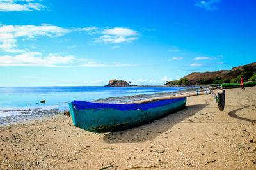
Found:
M 166 117 L 154 120 L 145 125 L 127 129 L 125 131 L 111 132 L 104 134 L 105 143 L 140 143 L 152 141 L 160 134 L 171 129 L 174 125 L 189 118 L 209 104 L 196 104 L 186 106 L 183 110 L 176 111 Z

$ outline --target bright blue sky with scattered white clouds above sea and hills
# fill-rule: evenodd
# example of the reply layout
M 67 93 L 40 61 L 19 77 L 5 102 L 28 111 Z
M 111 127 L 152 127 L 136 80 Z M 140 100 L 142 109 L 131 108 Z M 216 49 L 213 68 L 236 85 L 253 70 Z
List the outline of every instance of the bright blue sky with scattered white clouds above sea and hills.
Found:
M 0 0 L 0 86 L 162 85 L 255 62 L 256 1 Z

